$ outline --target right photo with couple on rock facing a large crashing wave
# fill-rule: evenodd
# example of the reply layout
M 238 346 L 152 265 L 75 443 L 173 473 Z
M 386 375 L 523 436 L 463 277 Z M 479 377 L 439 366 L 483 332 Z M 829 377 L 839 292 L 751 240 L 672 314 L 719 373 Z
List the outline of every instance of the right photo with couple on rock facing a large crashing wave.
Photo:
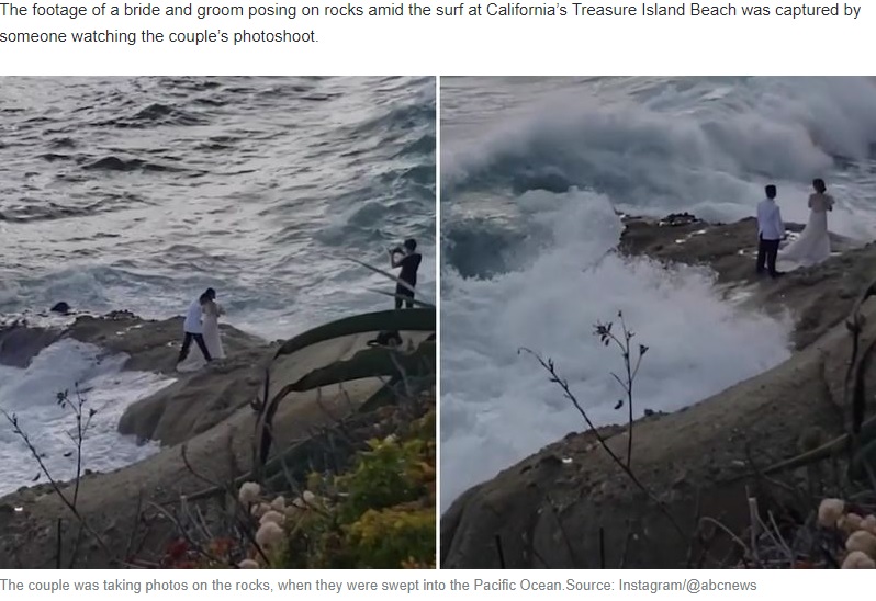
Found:
M 441 567 L 876 567 L 876 79 L 440 105 Z

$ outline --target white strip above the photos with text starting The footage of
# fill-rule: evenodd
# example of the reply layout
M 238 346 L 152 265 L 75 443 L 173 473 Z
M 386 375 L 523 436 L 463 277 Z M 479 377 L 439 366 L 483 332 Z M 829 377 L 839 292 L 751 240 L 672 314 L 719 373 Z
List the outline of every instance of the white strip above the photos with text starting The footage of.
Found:
M 44 0 L 46 4 L 57 0 Z M 91 1 L 65 0 L 93 5 Z M 339 0 L 318 5 L 341 3 Z M 833 2 L 821 0 L 828 5 Z M 31 7 L 32 0 L 23 4 Z M 102 2 L 100 2 L 102 3 Z M 115 2 L 108 2 L 113 5 Z M 136 2 L 132 2 L 136 3 Z M 216 0 L 202 5 L 237 4 Z M 248 1 L 239 2 L 247 7 Z M 272 4 L 272 2 L 251 2 Z M 311 4 L 283 1 L 281 4 Z M 352 4 L 370 7 L 380 2 Z M 388 2 L 389 3 L 389 2 Z M 572 11 L 571 2 L 561 2 Z M 613 5 L 620 5 L 617 2 Z M 641 4 L 627 2 L 631 5 Z M 852 2 L 854 3 L 854 2 Z M 119 2 L 123 5 L 124 2 Z M 155 2 L 162 9 L 178 2 Z M 452 5 L 424 1 L 434 8 Z M 464 3 L 464 8 L 474 3 Z M 532 4 L 541 5 L 532 0 Z M 554 4 L 549 2 L 548 4 Z M 667 2 L 666 5 L 677 5 Z M 688 12 L 689 12 L 689 3 Z M 715 3 L 720 5 L 725 3 Z M 734 2 L 799 5 L 790 0 Z M 0 44 L 5 75 L 866 75 L 876 7 L 851 18 L 10 18 L 0 31 L 315 30 L 312 44 Z M 405 7 L 407 2 L 405 2 Z M 843 2 L 839 3 L 840 11 Z M 486 7 L 486 3 L 483 3 Z

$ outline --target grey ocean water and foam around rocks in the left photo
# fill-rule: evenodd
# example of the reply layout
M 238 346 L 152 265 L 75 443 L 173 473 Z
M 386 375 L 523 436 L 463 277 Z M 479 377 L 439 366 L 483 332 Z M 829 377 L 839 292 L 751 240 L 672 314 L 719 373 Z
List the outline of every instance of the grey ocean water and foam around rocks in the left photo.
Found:
M 226 322 L 288 338 L 392 306 L 348 258 L 388 267 L 408 237 L 435 300 L 435 113 L 434 78 L 0 78 L 0 317 L 168 318 L 213 286 Z M 98 361 L 57 345 L 0 367 L 0 406 L 63 457 L 58 388 L 111 392 L 87 465 L 108 469 L 148 451 L 111 453 L 112 422 L 167 382 Z M 4 428 L 0 491 L 35 475 Z

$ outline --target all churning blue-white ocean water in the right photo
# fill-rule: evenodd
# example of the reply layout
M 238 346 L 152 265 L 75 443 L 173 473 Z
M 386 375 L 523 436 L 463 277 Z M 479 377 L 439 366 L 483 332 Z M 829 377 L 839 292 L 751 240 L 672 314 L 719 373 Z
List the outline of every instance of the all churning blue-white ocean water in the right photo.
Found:
M 634 409 L 671 411 L 789 356 L 790 321 L 742 313 L 707 270 L 624 260 L 616 211 L 751 216 L 765 183 L 805 223 L 876 233 L 876 84 L 857 78 L 441 79 L 441 509 L 586 424 L 521 347 L 555 362 L 597 423 L 624 422 L 622 311 L 650 348 Z M 619 325 L 616 324 L 615 330 Z

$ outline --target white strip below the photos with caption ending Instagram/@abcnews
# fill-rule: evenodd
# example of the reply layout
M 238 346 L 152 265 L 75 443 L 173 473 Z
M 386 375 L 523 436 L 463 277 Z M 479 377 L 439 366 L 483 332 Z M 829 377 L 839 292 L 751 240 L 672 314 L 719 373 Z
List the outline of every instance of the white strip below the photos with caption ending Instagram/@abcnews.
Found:
M 0 589 L 0 596 L 4 600 L 26 599 L 27 601 L 49 601 L 57 599 L 105 599 L 113 601 L 127 601 L 136 599 L 161 599 L 164 601 L 176 601 L 183 599 L 191 599 L 193 596 L 210 596 L 210 599 L 247 599 L 248 601 L 257 601 L 258 599 L 344 599 L 352 600 L 359 599 L 363 601 L 377 601 L 378 599 L 386 601 L 396 600 L 412 600 L 412 599 L 434 599 L 445 600 L 453 599 L 454 601 L 468 600 L 493 600 L 493 599 L 600 599 L 611 601 L 632 601 L 638 599 L 650 600 L 727 600 L 737 599 L 742 600 L 760 600 L 777 601 L 779 599 L 835 599 L 838 596 L 847 593 L 850 596 L 863 596 L 863 598 L 871 598 L 873 590 L 873 574 L 869 570 L 855 571 L 855 570 L 696 570 L 685 572 L 684 570 L 492 570 L 484 572 L 475 572 L 472 570 L 442 570 L 442 571 L 423 571 L 423 570 L 382 570 L 382 571 L 342 571 L 342 570 L 323 570 L 318 574 L 315 571 L 302 572 L 294 570 L 283 571 L 249 571 L 249 570 L 74 570 L 74 571 L 38 571 L 38 570 L 0 570 L 0 583 L 3 578 L 12 578 L 16 582 L 24 583 L 25 590 L 23 592 L 10 592 L 9 590 Z M 269 583 L 274 586 L 274 592 L 240 592 L 236 590 L 215 592 L 193 593 L 191 591 L 192 582 L 202 581 L 211 583 L 214 578 L 220 578 L 223 581 L 232 582 L 246 582 L 254 583 L 256 581 Z M 342 590 L 340 592 L 278 592 L 276 582 L 287 581 L 289 579 L 295 581 L 317 579 L 340 582 Z M 607 592 L 599 591 L 558 591 L 558 592 L 537 592 L 534 590 L 520 590 L 525 581 L 529 582 L 552 582 L 559 581 L 563 586 L 568 579 L 576 581 L 599 581 L 610 582 L 615 590 Z M 732 582 L 754 582 L 756 590 L 754 591 L 701 591 L 701 592 L 684 592 L 684 591 L 660 591 L 650 592 L 648 590 L 638 591 L 624 591 L 619 592 L 619 581 L 626 582 L 684 582 L 685 579 L 689 581 L 696 578 L 699 582 L 709 581 L 715 583 L 726 585 Z M 149 592 L 146 593 L 142 589 L 139 594 L 135 592 L 59 592 L 59 593 L 35 593 L 27 592 L 30 582 L 47 583 L 52 581 L 75 581 L 88 580 L 100 582 L 102 586 L 103 580 L 138 580 L 142 583 L 150 581 L 175 581 L 188 582 L 189 591 L 187 592 Z M 470 586 L 474 583 L 475 579 L 490 581 L 494 585 L 499 585 L 503 580 L 505 582 L 514 583 L 518 590 L 468 590 L 468 591 L 451 591 L 451 580 L 465 581 Z M 384 582 L 412 582 L 423 580 L 430 582 L 439 581 L 445 583 L 443 591 L 437 592 L 389 592 L 383 590 Z M 371 581 L 377 582 L 377 591 L 353 592 L 347 590 L 346 582 L 361 582 Z

